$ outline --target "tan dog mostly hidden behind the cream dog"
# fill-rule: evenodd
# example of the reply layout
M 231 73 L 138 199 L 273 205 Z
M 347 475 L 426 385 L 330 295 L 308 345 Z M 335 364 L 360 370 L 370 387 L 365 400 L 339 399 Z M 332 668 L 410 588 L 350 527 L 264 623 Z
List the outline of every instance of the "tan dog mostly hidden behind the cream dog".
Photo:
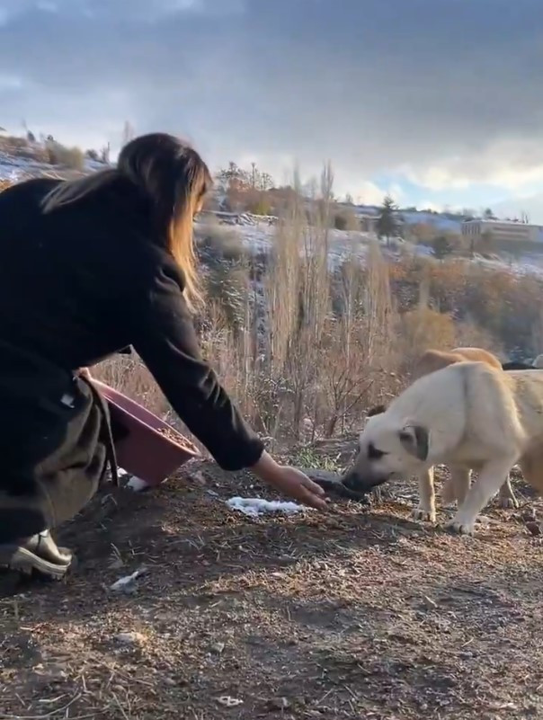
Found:
M 418 380 L 424 375 L 431 372 L 447 368 L 458 362 L 485 362 L 488 366 L 495 369 L 502 369 L 502 363 L 492 352 L 483 350 L 482 348 L 455 348 L 451 351 L 427 350 L 417 361 L 412 373 L 412 379 Z M 435 490 L 433 484 L 433 467 L 423 472 L 418 478 L 419 480 L 419 506 L 413 511 L 414 518 L 417 520 L 430 520 L 435 522 Z M 469 470 L 465 467 L 450 466 L 450 478 L 443 484 L 441 489 L 441 498 L 444 504 L 458 502 L 458 505 L 464 501 L 469 490 L 470 478 Z M 511 481 L 509 477 L 500 488 L 500 504 L 503 508 L 516 508 L 519 506 L 514 493 L 512 492 Z

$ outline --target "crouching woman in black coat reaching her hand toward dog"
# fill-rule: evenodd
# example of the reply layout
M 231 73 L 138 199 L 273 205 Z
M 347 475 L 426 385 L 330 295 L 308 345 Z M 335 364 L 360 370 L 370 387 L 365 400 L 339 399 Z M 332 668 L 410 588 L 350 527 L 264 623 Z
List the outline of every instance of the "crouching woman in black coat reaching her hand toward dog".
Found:
M 192 220 L 210 185 L 191 147 L 152 134 L 115 169 L 0 193 L 0 566 L 66 573 L 71 553 L 49 530 L 114 467 L 107 407 L 77 369 L 129 345 L 221 467 L 325 507 L 320 487 L 268 455 L 201 358 Z

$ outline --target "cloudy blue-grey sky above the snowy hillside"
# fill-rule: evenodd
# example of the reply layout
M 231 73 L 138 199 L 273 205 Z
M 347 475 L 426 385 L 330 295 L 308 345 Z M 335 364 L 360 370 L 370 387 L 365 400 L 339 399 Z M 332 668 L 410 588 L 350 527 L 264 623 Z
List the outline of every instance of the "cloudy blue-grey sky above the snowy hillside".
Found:
M 542 0 L 0 0 L 0 126 L 543 223 Z M 503 205 L 505 203 L 505 205 Z

